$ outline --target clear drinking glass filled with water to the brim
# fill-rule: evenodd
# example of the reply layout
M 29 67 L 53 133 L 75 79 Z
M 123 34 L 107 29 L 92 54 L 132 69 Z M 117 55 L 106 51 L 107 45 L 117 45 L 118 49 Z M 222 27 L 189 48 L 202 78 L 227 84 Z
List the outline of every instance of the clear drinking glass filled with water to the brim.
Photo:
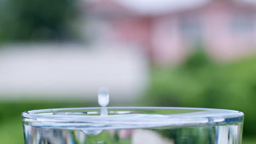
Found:
M 240 144 L 244 115 L 186 107 L 86 107 L 27 111 L 22 118 L 25 144 Z

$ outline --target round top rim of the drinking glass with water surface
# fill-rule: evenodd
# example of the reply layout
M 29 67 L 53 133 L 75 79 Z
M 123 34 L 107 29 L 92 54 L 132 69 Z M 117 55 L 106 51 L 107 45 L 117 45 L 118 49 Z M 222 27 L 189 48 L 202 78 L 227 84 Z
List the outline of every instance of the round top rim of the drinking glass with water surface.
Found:
M 100 116 L 101 109 L 108 109 L 111 115 Z M 173 112 L 168 113 L 171 111 Z M 35 127 L 65 129 L 102 129 L 103 125 L 108 125 L 104 126 L 104 129 L 193 127 L 243 123 L 243 117 L 244 114 L 240 111 L 197 107 L 73 107 L 22 113 L 24 123 L 30 123 Z

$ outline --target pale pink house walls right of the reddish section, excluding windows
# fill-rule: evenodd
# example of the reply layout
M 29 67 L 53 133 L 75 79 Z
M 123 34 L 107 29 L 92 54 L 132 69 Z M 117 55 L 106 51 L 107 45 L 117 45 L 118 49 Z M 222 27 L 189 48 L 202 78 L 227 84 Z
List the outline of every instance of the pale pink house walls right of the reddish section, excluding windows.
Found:
M 153 51 L 155 61 L 176 63 L 190 52 L 191 41 L 185 38 L 179 27 L 184 17 L 199 19 L 202 26 L 202 44 L 212 57 L 234 59 L 254 52 L 256 48 L 256 13 L 250 5 L 239 5 L 230 1 L 213 1 L 198 9 L 159 16 L 153 24 Z M 236 14 L 254 17 L 252 32 L 232 33 L 232 20 Z

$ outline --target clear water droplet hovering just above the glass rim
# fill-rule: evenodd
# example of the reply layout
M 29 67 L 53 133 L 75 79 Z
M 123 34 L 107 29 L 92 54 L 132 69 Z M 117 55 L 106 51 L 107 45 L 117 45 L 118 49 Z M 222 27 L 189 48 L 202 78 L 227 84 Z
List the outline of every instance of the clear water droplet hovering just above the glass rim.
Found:
M 100 106 L 107 106 L 109 103 L 109 94 L 106 87 L 101 87 L 98 90 L 98 104 Z

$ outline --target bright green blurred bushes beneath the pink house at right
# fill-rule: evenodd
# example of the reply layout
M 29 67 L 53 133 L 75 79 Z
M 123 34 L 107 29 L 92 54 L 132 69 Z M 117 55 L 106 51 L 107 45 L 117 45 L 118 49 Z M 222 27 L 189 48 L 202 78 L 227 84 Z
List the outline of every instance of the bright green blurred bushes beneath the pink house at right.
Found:
M 146 101 L 154 106 L 233 109 L 245 113 L 245 135 L 255 135 L 256 58 L 214 64 L 196 52 L 176 68 L 154 69 Z

